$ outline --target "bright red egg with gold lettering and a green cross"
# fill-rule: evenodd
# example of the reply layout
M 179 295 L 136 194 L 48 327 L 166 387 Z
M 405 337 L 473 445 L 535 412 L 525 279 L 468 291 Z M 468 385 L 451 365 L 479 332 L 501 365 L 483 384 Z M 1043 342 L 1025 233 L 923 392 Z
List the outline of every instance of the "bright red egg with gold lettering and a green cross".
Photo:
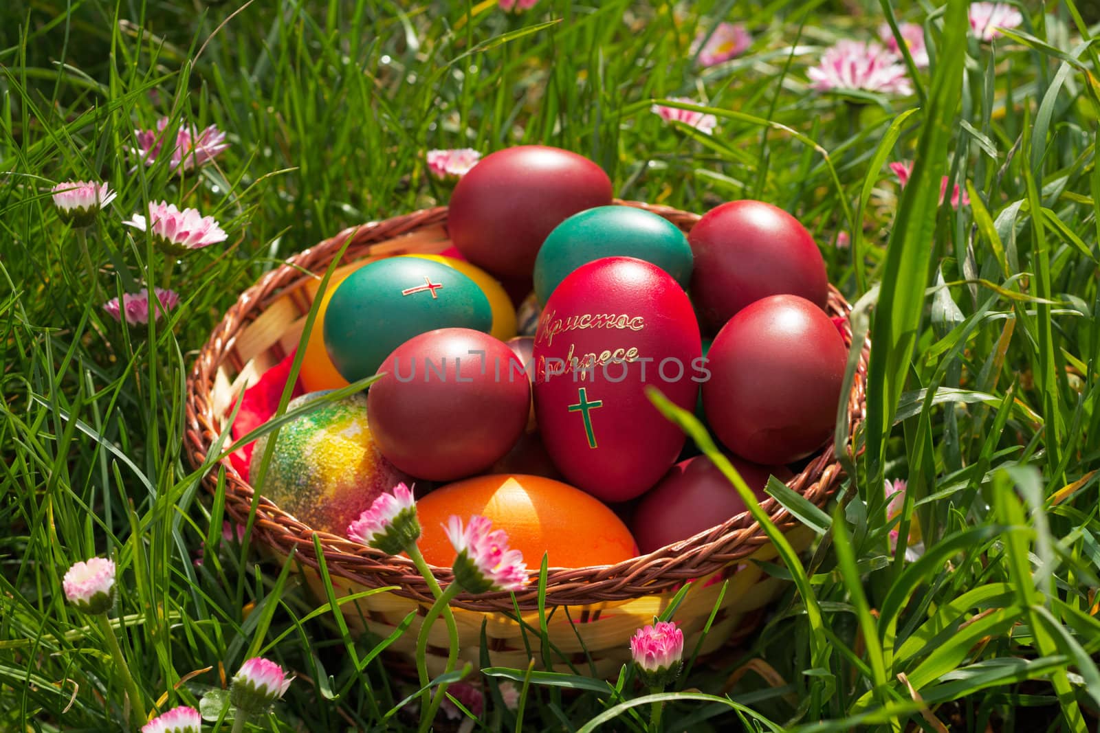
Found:
M 535 336 L 535 414 L 566 480 L 604 501 L 656 484 L 684 434 L 646 387 L 693 409 L 701 353 L 691 302 L 660 267 L 605 257 L 566 276 Z

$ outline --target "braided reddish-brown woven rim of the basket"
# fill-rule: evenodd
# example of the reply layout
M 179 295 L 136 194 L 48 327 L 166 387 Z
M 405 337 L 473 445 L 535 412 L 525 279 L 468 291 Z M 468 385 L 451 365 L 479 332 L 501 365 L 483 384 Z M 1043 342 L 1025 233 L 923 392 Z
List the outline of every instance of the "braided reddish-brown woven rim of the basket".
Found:
M 652 211 L 684 231 L 690 230 L 700 219 L 698 214 L 671 207 L 618 199 L 615 203 Z M 323 273 L 348 238 L 352 242 L 341 265 L 371 256 L 373 244 L 389 242 L 428 226 L 446 226 L 446 222 L 447 207 L 436 207 L 349 227 L 289 257 L 283 265 L 263 275 L 255 285 L 242 292 L 199 351 L 188 376 L 185 444 L 187 458 L 191 465 L 198 468 L 206 463 L 212 446 L 226 430 L 226 415 L 217 414 L 215 411 L 212 399 L 215 376 L 227 363 L 237 336 L 245 326 L 286 291 L 317 277 L 318 271 Z M 389 254 L 398 253 L 387 248 L 383 256 Z M 829 314 L 846 315 L 848 311 L 850 311 L 848 302 L 835 287 L 829 285 Z M 842 332 L 846 345 L 850 344 L 851 330 L 847 319 Z M 851 391 L 848 395 L 849 435 L 855 434 L 855 429 L 866 412 L 865 391 L 869 348 L 869 341 L 865 341 Z M 235 521 L 244 523 L 253 503 L 253 489 L 237 473 L 228 456 L 219 463 L 226 477 L 226 510 Z M 218 468 L 219 464 L 215 464 L 202 478 L 211 492 L 217 490 Z M 815 454 L 801 471 L 788 480 L 787 485 L 818 507 L 824 507 L 836 492 L 840 475 L 842 467 L 831 442 Z M 784 532 L 801 525 L 801 522 L 791 517 L 771 497 L 762 501 L 761 507 L 769 519 Z M 314 547 L 315 535 L 322 547 L 323 563 L 332 576 L 371 588 L 396 586 L 397 590 L 393 592 L 422 603 L 430 603 L 433 600 L 426 581 L 411 560 L 406 557 L 389 556 L 346 537 L 312 530 L 263 496 L 258 498 L 253 540 L 268 545 L 283 556 L 295 552 L 297 562 L 317 569 L 320 563 Z M 693 537 L 615 565 L 548 568 L 543 603 L 547 607 L 583 606 L 627 601 L 672 591 L 685 581 L 736 566 L 738 562 L 766 544 L 768 544 L 767 536 L 746 511 Z M 449 567 L 432 567 L 432 573 L 440 581 L 452 580 Z M 536 609 L 539 603 L 538 566 L 535 566 L 530 574 L 532 584 L 529 588 L 515 593 L 515 604 L 509 592 L 477 597 L 462 593 L 453 604 L 474 611 L 514 612 L 516 606 L 521 610 Z

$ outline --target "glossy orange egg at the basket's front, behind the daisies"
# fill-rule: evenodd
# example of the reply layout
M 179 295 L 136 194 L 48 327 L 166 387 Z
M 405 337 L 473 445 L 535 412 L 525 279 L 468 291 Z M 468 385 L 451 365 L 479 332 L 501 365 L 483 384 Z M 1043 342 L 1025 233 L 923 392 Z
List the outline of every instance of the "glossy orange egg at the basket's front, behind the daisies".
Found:
M 540 476 L 493 474 L 436 489 L 417 502 L 424 535 L 420 552 L 431 565 L 454 563 L 443 526 L 479 514 L 508 534 L 509 546 L 538 568 L 614 565 L 638 554 L 630 531 L 615 513 L 584 491 Z

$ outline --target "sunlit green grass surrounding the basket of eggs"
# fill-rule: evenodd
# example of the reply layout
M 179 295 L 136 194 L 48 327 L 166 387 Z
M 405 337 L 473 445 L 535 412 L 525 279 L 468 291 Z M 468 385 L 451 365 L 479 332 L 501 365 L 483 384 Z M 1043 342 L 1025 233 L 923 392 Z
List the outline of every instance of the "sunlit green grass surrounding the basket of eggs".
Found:
M 387 674 L 377 640 L 348 633 L 288 568 L 220 541 L 221 502 L 183 456 L 185 377 L 262 273 L 343 227 L 446 202 L 427 148 L 532 142 L 590 156 L 623 198 L 788 209 L 832 281 L 865 299 L 854 323 L 875 349 L 866 430 L 838 436 L 846 502 L 812 518 L 802 564 L 767 567 L 802 592 L 792 584 L 748 645 L 696 663 L 663 720 L 1094 729 L 1100 68 L 1080 40 L 1100 14 L 1022 3 L 1024 24 L 990 47 L 967 35 L 965 2 L 899 3 L 935 45 L 921 97 L 810 91 L 820 51 L 873 37 L 888 4 L 2 3 L 0 730 L 123 729 L 101 632 L 61 592 L 96 554 L 121 569 L 120 638 L 146 707 L 197 706 L 261 653 L 299 676 L 262 730 L 415 725 L 395 710 L 415 685 Z M 718 19 L 755 43 L 700 70 L 691 40 Z M 649 112 L 673 96 L 718 115 L 716 134 Z M 231 147 L 183 179 L 133 169 L 134 127 L 162 115 L 217 124 Z M 884 164 L 913 158 L 902 193 Z M 969 207 L 936 206 L 942 175 Z M 89 230 L 94 273 L 48 196 L 80 178 L 119 192 Z M 217 216 L 229 241 L 173 267 L 121 224 L 161 199 Z M 840 232 L 853 248 L 835 246 Z M 166 281 L 183 301 L 155 327 L 99 308 Z M 910 491 L 888 519 L 883 478 L 898 477 Z M 913 522 L 924 555 L 909 563 L 888 533 Z M 770 680 L 726 689 L 754 659 Z M 527 680 L 524 730 L 646 728 L 651 700 L 632 685 L 494 674 L 475 730 L 519 729 L 495 688 L 509 675 Z

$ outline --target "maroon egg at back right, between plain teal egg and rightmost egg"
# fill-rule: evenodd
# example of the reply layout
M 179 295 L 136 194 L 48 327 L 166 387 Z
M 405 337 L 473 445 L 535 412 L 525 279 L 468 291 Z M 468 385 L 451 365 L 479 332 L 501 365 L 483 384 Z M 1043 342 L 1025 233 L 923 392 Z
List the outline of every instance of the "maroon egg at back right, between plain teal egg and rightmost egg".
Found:
M 806 227 L 763 201 L 729 201 L 706 212 L 688 236 L 691 293 L 703 330 L 715 333 L 749 303 L 781 293 L 825 308 L 825 260 Z

